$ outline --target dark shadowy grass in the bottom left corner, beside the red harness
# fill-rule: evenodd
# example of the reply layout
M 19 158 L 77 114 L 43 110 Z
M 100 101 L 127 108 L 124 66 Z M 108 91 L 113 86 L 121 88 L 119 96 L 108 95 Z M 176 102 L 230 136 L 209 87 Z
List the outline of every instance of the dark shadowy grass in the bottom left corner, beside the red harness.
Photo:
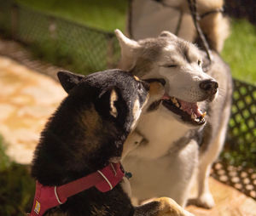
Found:
M 35 182 L 27 166 L 9 159 L 4 146 L 0 137 L 0 215 L 25 216 L 31 211 Z

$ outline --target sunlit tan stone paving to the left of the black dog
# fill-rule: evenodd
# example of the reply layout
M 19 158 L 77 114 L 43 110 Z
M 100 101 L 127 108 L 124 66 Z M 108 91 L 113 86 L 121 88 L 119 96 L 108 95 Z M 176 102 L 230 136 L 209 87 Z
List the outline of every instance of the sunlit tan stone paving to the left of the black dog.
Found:
M 30 163 L 47 118 L 66 95 L 52 78 L 0 56 L 0 134 L 15 162 Z

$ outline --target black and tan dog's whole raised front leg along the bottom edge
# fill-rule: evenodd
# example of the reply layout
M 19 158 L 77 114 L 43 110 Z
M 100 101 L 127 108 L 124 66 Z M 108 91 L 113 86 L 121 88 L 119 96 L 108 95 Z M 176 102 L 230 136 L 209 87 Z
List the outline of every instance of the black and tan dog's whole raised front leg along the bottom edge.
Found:
M 156 198 L 139 207 L 135 207 L 134 216 L 193 216 L 171 198 Z

